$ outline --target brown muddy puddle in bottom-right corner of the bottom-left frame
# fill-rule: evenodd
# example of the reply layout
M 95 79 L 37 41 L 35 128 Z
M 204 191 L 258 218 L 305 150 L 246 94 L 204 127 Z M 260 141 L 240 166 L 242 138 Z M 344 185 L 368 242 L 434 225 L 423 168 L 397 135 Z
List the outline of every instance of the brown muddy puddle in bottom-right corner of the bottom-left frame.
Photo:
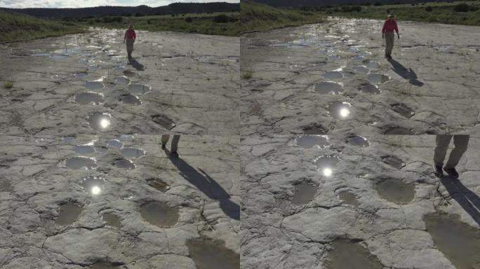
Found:
M 214 240 L 187 241 L 189 256 L 197 269 L 239 269 L 240 256 Z

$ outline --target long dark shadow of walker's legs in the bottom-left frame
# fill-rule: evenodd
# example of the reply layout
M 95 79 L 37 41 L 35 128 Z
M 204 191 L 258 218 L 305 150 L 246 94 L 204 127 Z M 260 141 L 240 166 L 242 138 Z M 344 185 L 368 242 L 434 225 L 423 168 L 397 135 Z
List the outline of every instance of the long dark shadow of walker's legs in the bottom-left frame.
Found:
M 204 170 L 197 171 L 194 167 L 182 160 L 182 158 L 171 156 L 168 149 L 164 149 L 166 156 L 173 165 L 180 170 L 180 175 L 189 181 L 192 185 L 199 188 L 208 198 L 217 200 L 220 203 L 220 209 L 232 219 L 240 220 L 240 206 L 230 200 L 230 195 L 220 186 L 217 181 L 212 179 Z

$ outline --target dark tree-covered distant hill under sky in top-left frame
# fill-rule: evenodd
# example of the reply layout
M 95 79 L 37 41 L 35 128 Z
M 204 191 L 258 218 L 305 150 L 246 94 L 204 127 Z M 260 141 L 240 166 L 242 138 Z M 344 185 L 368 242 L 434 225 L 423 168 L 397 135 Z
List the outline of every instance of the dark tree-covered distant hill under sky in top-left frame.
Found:
M 240 11 L 240 4 L 174 3 L 152 8 L 149 6 L 97 6 L 93 8 L 0 8 L 4 11 L 24 13 L 35 17 L 62 18 L 102 15 L 170 15 L 182 13 L 215 13 Z

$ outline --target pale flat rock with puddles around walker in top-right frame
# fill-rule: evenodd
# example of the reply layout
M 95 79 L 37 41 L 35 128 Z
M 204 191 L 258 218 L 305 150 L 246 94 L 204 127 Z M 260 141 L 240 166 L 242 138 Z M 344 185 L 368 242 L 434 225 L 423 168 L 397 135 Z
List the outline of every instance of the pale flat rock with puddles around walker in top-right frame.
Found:
M 332 135 L 479 133 L 480 27 L 398 23 L 389 61 L 380 20 L 331 18 L 242 36 L 242 134 L 298 134 L 314 124 Z M 326 87 L 335 83 L 341 89 Z M 331 116 L 328 107 L 342 102 L 352 104 L 349 116 Z

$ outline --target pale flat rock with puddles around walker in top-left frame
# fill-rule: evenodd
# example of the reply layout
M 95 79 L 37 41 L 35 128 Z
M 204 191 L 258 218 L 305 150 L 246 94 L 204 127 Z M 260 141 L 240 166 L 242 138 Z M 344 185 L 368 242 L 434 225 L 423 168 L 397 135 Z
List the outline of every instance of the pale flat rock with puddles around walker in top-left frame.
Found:
M 121 30 L 91 29 L 2 45 L 2 133 L 238 133 L 238 37 L 138 31 L 127 64 L 123 36 Z M 4 80 L 13 88 L 3 89 Z M 85 92 L 101 96 L 79 98 Z M 134 95 L 130 101 L 128 95 Z M 91 127 L 93 113 L 111 115 L 109 127 Z M 156 123 L 152 117 L 159 114 L 174 127 Z

